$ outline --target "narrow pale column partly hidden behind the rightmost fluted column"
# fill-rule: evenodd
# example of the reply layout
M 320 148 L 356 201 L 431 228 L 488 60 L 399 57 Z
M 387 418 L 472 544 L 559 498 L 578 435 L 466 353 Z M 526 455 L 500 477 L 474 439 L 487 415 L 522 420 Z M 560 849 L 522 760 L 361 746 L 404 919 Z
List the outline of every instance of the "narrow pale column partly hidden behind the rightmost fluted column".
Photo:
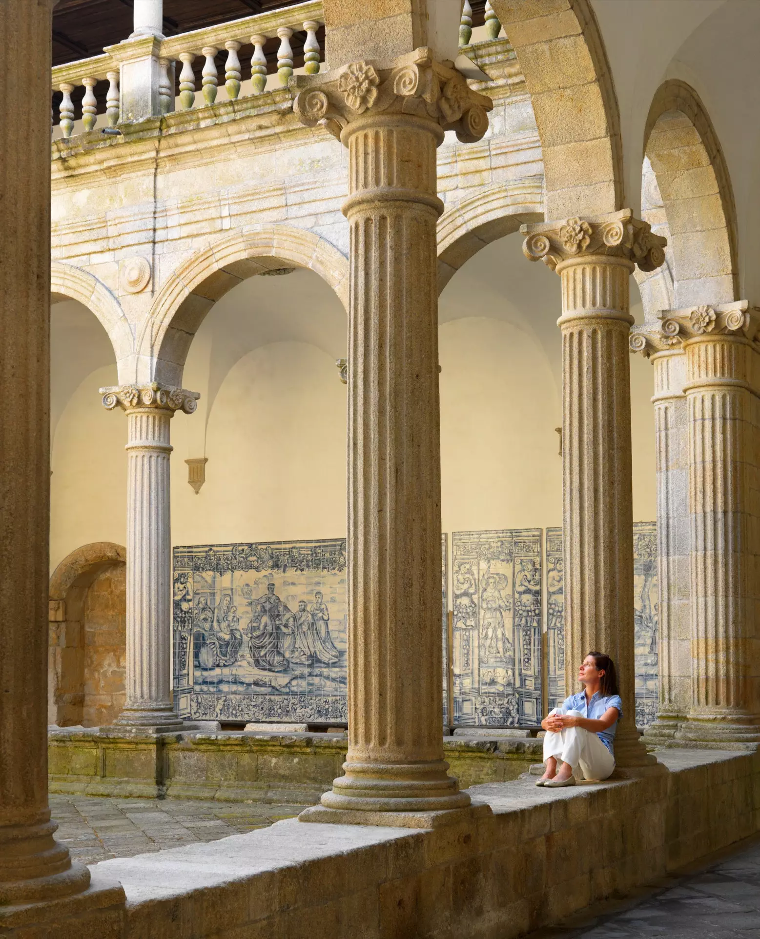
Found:
M 655 372 L 659 707 L 644 738 L 658 745 L 675 738 L 691 702 L 686 356 L 680 341 L 657 324 L 634 326 L 629 343 L 652 362 Z

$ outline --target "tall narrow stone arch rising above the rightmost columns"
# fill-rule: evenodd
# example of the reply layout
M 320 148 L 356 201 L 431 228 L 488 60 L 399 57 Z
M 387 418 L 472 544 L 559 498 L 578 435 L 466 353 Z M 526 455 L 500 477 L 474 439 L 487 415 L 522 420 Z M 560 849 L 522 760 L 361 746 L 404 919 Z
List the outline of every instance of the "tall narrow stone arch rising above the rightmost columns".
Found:
M 675 306 L 738 299 L 737 208 L 725 157 L 705 105 L 690 85 L 659 86 L 644 128 L 665 209 Z

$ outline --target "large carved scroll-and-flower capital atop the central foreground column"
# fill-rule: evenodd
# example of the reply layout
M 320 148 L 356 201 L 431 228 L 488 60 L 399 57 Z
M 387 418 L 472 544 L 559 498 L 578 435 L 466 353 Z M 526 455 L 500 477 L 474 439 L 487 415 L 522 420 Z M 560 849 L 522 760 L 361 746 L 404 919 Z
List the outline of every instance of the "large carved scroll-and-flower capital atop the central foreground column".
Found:
M 293 110 L 307 127 L 323 127 L 340 139 L 344 128 L 367 115 L 415 115 L 457 131 L 471 143 L 489 128 L 493 107 L 456 69 L 437 62 L 427 47 L 390 61 L 350 62 L 318 75 L 296 75 Z

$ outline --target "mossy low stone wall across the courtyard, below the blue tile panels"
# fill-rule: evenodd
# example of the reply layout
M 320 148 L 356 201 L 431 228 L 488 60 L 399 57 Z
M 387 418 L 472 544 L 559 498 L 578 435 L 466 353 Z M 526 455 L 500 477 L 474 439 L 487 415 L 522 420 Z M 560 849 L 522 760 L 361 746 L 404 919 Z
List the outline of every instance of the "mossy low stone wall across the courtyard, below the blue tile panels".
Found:
M 444 741 L 464 786 L 515 779 L 541 759 L 540 740 Z M 188 732 L 113 736 L 55 729 L 48 739 L 52 793 L 316 804 L 343 775 L 344 734 Z

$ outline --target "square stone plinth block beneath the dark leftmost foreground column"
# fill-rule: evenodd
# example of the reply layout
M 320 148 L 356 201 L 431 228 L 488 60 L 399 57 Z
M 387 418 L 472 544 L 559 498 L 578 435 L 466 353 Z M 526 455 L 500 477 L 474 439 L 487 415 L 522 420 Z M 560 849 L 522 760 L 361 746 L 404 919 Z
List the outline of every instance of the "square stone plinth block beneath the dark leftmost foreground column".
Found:
M 74 896 L 0 905 L 0 933 L 8 939 L 16 936 L 28 939 L 33 935 L 54 935 L 55 939 L 83 939 L 83 936 L 121 939 L 126 921 L 125 901 L 124 890 L 117 881 L 94 874 L 87 888 Z

